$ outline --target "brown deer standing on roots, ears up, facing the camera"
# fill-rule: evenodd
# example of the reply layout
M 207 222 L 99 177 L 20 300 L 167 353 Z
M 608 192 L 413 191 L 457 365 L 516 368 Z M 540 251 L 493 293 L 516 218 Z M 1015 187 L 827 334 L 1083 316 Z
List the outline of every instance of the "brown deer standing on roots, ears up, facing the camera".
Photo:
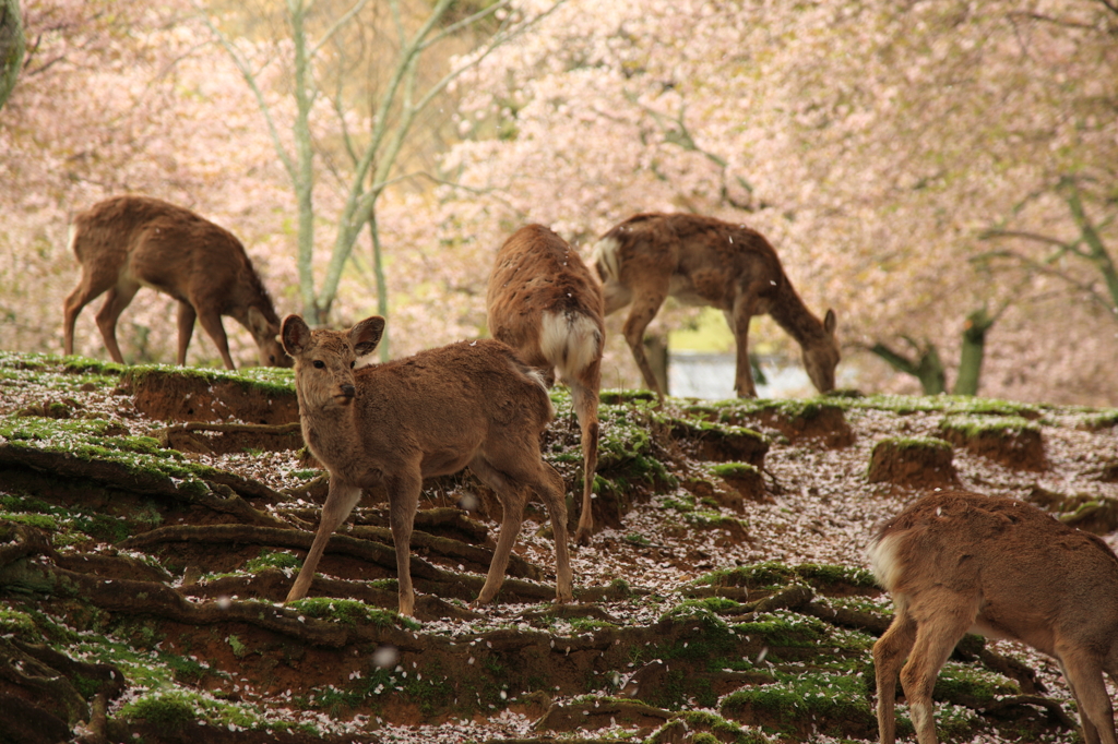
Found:
M 354 369 L 358 357 L 376 350 L 383 330 L 379 315 L 348 332 L 312 330 L 299 315 L 281 324 L 284 350 L 295 365 L 303 440 L 330 473 L 318 532 L 285 602 L 306 597 L 330 536 L 360 502 L 362 488 L 382 487 L 396 549 L 399 612 L 414 616 L 410 541 L 423 479 L 465 467 L 496 493 L 503 512 L 476 603 L 492 602 L 501 589 L 529 490 L 551 517 L 556 601 L 570 602 L 563 480 L 540 451 L 555 416 L 543 379 L 493 338 Z

